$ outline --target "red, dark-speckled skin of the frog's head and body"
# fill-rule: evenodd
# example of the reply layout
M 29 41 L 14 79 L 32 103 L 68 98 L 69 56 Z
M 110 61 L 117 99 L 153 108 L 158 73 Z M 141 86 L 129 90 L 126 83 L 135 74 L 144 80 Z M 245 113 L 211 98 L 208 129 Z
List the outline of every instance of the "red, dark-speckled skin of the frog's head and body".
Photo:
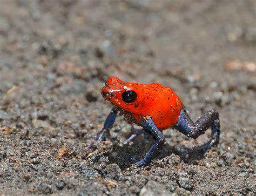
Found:
M 125 103 L 122 100 L 122 93 L 125 91 L 136 92 L 136 100 Z M 138 84 L 110 77 L 102 88 L 102 94 L 129 120 L 139 124 L 144 118 L 152 117 L 159 130 L 174 126 L 183 106 L 170 87 L 159 83 Z

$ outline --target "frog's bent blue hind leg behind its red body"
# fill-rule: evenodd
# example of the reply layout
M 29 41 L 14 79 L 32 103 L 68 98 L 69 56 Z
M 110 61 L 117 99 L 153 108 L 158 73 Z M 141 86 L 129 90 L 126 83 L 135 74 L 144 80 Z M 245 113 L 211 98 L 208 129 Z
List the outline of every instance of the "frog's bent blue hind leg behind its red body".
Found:
M 207 150 L 213 145 L 219 143 L 220 120 L 219 113 L 217 111 L 210 110 L 194 123 L 188 116 L 186 110 L 181 109 L 180 116 L 174 128 L 185 134 L 187 137 L 196 139 L 201 134 L 204 134 L 210 126 L 212 130 L 212 139 L 206 144 L 200 146 L 201 149 Z

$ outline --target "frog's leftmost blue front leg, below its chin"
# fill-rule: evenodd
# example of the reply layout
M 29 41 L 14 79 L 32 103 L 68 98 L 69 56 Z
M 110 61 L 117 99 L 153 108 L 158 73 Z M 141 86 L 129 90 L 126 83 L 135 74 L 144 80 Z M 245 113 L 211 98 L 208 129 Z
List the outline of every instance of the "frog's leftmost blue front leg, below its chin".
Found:
M 97 138 L 98 140 L 96 141 L 95 145 L 102 141 L 102 140 L 107 140 L 109 139 L 109 129 L 110 127 L 114 124 L 114 120 L 116 120 L 117 117 L 117 110 L 113 109 L 110 111 L 109 116 L 107 116 L 105 123 L 103 125 L 102 131 L 100 131 L 96 137 L 93 136 L 87 136 L 87 138 Z

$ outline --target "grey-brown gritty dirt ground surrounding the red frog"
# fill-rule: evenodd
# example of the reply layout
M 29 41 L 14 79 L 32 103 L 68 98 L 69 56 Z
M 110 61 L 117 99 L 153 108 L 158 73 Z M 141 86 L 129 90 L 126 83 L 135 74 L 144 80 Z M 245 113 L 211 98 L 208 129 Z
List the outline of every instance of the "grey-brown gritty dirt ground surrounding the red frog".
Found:
M 1 195 L 255 194 L 256 2 L 0 0 Z M 109 76 L 171 86 L 197 120 L 220 113 L 218 146 L 164 131 L 123 145 L 118 117 L 95 148 L 111 104 Z

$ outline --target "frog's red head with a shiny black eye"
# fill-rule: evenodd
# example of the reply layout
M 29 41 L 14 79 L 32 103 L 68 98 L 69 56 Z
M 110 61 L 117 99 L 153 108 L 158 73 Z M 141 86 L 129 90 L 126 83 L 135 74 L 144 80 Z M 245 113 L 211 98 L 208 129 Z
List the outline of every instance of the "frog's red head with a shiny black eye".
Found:
M 102 96 L 120 109 L 134 113 L 139 106 L 136 83 L 128 83 L 117 77 L 110 77 L 102 88 Z

